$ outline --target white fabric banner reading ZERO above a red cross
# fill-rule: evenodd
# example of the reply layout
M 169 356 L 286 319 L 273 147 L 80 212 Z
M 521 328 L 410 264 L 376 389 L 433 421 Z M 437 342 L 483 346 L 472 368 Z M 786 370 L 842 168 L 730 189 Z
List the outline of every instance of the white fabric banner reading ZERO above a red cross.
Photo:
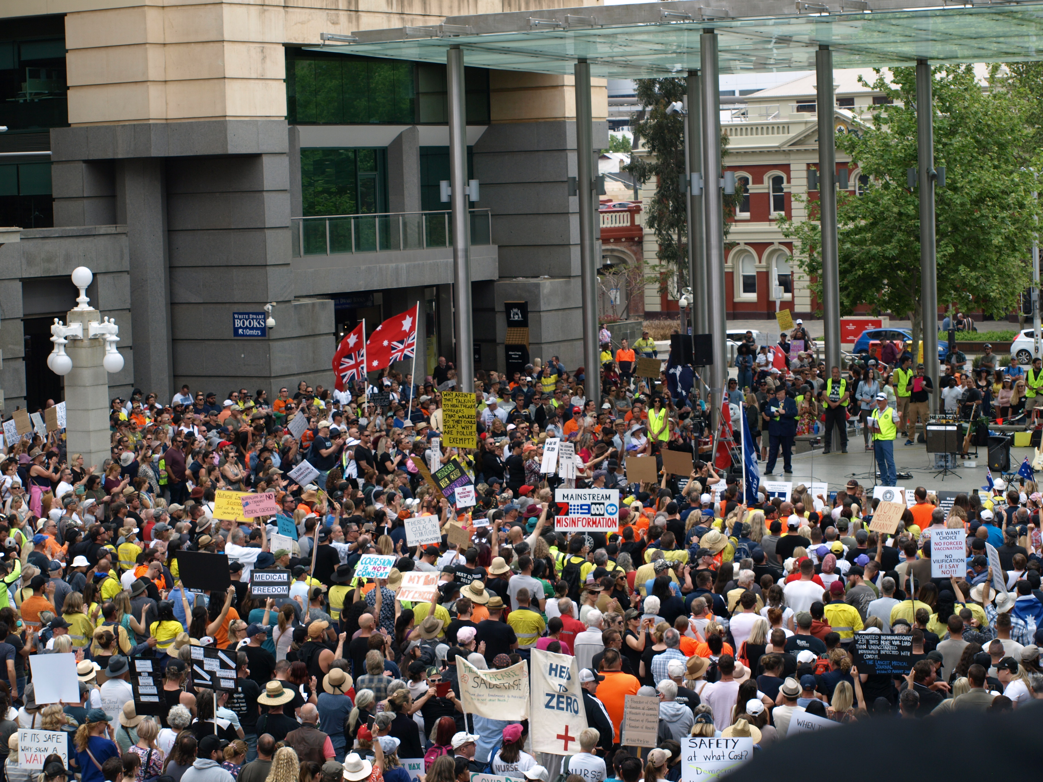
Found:
M 538 649 L 532 650 L 531 655 L 529 729 L 532 750 L 575 755 L 580 749 L 580 731 L 587 727 L 576 658 Z

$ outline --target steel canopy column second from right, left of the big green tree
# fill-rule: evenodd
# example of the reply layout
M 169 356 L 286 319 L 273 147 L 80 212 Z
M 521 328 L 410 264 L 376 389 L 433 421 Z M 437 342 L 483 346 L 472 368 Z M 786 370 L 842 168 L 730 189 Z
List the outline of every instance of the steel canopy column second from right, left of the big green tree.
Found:
M 816 111 L 819 119 L 819 222 L 822 227 L 822 320 L 826 369 L 841 366 L 841 286 L 836 248 L 836 140 L 833 135 L 833 53 L 815 53 Z

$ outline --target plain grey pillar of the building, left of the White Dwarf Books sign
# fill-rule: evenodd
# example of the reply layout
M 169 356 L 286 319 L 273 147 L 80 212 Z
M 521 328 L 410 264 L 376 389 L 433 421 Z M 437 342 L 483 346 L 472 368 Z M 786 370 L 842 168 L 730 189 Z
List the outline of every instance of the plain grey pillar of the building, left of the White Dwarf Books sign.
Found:
M 135 385 L 169 401 L 173 393 L 166 164 L 162 157 L 117 163 L 117 219 L 127 226 Z

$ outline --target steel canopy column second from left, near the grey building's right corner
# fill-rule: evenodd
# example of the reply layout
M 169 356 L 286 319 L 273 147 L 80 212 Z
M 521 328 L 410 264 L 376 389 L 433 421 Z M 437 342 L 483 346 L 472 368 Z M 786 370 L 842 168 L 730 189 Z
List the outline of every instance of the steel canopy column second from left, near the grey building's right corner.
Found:
M 583 301 L 584 388 L 588 399 L 601 399 L 601 350 L 598 346 L 598 267 L 595 234 L 593 109 L 590 104 L 590 66 L 585 59 L 576 74 L 576 181 L 580 199 L 580 286 Z

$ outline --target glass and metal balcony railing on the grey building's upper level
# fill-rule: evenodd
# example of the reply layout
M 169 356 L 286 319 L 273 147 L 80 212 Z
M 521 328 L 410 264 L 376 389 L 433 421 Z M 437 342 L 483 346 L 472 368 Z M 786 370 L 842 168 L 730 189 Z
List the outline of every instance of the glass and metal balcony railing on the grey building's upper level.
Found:
M 489 210 L 469 210 L 470 243 L 492 244 Z M 293 254 L 389 252 L 453 246 L 451 212 L 294 217 Z

